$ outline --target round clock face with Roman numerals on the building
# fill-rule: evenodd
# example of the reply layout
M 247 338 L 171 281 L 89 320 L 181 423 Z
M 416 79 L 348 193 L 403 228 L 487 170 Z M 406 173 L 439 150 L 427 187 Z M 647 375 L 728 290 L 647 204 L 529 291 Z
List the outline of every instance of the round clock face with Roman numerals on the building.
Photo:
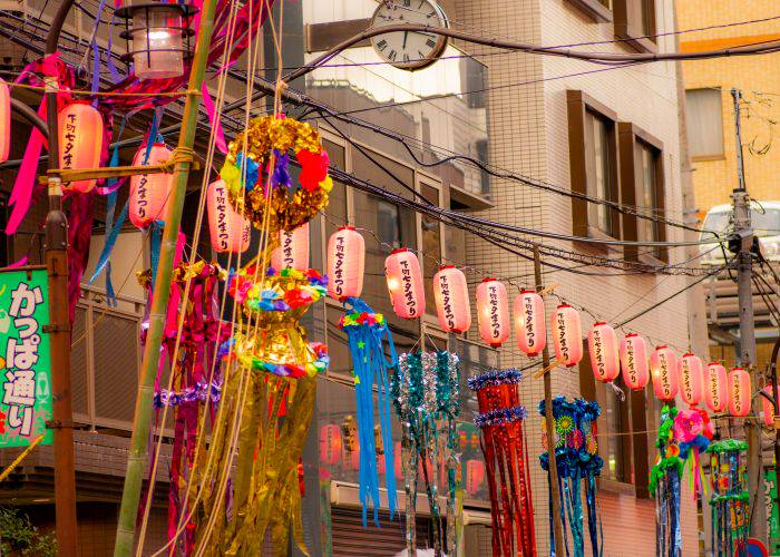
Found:
M 382 0 L 373 12 L 373 27 L 419 23 L 448 27 L 447 17 L 432 0 Z M 394 31 L 371 38 L 377 53 L 400 69 L 416 70 L 439 59 L 447 37 L 428 32 Z

